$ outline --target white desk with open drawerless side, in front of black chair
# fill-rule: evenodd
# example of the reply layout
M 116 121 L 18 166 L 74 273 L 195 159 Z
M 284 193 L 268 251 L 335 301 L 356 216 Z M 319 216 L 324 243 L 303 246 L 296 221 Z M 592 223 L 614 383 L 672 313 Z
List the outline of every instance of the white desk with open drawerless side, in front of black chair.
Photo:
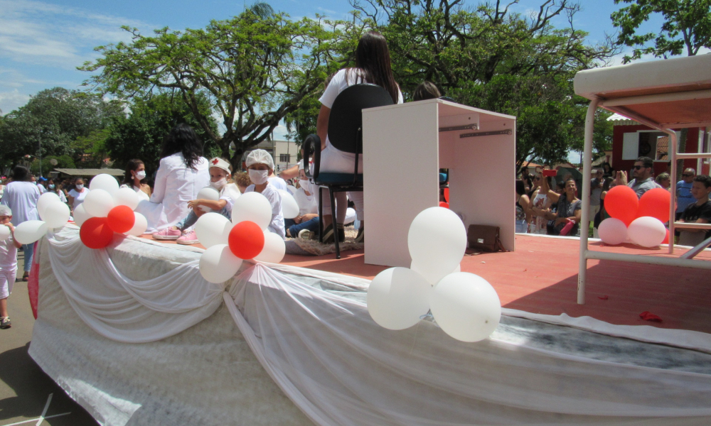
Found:
M 364 109 L 365 263 L 410 267 L 407 232 L 419 212 L 439 205 L 439 168 L 449 168 L 449 207 L 464 225 L 500 226 L 513 251 L 515 129 L 513 116 L 442 99 Z M 499 131 L 508 134 L 460 137 Z

